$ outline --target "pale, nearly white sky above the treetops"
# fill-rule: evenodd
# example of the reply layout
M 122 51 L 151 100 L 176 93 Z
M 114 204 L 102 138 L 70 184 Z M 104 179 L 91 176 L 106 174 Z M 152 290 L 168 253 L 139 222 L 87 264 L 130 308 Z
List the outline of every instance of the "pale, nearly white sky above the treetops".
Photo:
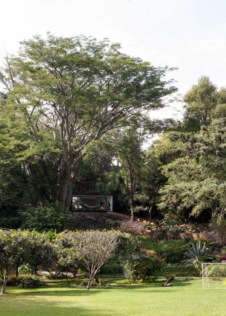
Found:
M 202 75 L 226 86 L 225 0 L 2 0 L 0 8 L 1 56 L 16 54 L 19 41 L 47 31 L 108 37 L 128 55 L 156 67 L 178 67 L 170 78 L 181 94 Z M 166 108 L 156 115 L 175 114 Z

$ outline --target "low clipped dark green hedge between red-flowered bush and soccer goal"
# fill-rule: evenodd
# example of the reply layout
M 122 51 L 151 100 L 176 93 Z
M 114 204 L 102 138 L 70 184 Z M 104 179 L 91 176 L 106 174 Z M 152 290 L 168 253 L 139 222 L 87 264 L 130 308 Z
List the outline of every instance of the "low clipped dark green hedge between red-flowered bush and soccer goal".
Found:
M 187 265 L 171 265 L 162 268 L 163 276 L 171 274 L 174 274 L 175 276 L 200 276 L 201 272 L 201 269 L 197 269 L 195 266 L 187 267 Z

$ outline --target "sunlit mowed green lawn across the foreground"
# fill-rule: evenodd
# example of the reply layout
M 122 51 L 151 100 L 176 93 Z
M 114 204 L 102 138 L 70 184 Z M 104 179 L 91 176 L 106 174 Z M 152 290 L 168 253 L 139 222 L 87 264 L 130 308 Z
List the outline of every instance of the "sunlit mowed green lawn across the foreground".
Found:
M 226 291 L 203 290 L 202 280 L 171 281 L 163 288 L 159 279 L 152 284 L 122 284 L 124 278 L 101 278 L 118 287 L 67 287 L 65 281 L 40 289 L 8 287 L 9 294 L 0 295 L 0 315 L 223 315 Z

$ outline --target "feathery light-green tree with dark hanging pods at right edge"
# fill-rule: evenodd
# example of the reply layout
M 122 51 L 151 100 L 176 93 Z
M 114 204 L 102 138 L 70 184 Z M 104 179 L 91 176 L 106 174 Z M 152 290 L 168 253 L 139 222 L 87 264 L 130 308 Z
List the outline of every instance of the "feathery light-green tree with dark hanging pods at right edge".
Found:
M 161 191 L 161 209 L 175 213 L 189 208 L 192 215 L 212 210 L 212 217 L 225 213 L 226 132 L 222 120 L 203 126 L 196 134 L 171 134 L 174 152 L 180 157 L 165 165 L 168 177 Z

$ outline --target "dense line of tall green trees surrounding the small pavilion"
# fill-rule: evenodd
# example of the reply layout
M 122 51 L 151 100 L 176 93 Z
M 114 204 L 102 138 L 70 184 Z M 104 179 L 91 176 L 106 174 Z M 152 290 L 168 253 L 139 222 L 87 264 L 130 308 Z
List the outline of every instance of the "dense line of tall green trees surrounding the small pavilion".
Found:
M 21 42 L 0 70 L 1 216 L 20 211 L 27 228 L 45 230 L 52 214 L 61 230 L 73 191 L 113 193 L 117 210 L 150 222 L 167 212 L 180 221 L 224 216 L 226 90 L 202 76 L 181 121 L 151 120 L 176 91 L 168 70 L 107 40 Z

